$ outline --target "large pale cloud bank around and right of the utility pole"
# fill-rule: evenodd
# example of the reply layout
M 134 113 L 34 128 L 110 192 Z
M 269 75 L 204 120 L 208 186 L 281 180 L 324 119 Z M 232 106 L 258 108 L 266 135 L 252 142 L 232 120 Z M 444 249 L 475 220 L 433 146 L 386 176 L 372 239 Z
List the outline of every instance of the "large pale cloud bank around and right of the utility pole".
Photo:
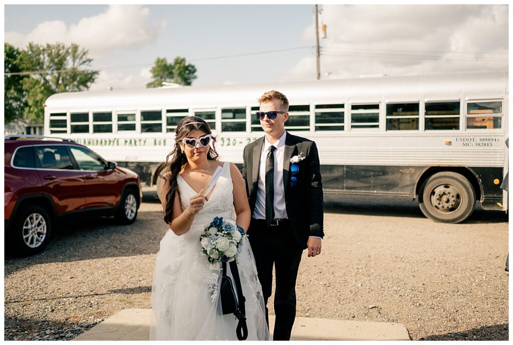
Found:
M 319 21 L 321 78 L 508 68 L 505 5 L 324 5 Z M 314 41 L 313 25 L 303 38 Z M 314 70 L 307 57 L 287 74 L 311 79 Z

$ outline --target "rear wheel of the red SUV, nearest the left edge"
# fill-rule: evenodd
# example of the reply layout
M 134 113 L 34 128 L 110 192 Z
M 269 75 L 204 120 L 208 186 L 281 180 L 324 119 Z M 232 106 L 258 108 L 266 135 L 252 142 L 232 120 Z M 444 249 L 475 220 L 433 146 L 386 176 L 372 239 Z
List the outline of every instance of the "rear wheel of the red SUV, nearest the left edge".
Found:
M 29 205 L 16 217 L 11 232 L 11 238 L 18 253 L 22 255 L 40 253 L 50 241 L 51 228 L 48 212 L 41 206 Z

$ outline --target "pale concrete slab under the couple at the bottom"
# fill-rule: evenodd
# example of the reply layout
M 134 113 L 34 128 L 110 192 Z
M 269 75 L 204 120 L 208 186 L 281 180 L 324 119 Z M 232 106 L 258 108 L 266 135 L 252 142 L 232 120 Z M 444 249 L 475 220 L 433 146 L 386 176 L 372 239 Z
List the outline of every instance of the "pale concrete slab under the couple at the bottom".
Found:
M 125 309 L 73 340 L 149 340 L 150 309 Z M 269 315 L 274 327 L 274 315 Z M 297 317 L 291 340 L 410 340 L 400 323 Z

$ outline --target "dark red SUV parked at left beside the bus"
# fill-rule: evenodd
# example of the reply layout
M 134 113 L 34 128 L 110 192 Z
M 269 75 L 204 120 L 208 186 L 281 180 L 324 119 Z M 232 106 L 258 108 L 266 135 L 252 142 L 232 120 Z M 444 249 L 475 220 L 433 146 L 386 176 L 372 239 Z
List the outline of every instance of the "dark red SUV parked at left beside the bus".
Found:
M 64 215 L 135 221 L 142 191 L 133 171 L 69 139 L 8 135 L 4 150 L 6 248 L 16 254 L 41 252 Z

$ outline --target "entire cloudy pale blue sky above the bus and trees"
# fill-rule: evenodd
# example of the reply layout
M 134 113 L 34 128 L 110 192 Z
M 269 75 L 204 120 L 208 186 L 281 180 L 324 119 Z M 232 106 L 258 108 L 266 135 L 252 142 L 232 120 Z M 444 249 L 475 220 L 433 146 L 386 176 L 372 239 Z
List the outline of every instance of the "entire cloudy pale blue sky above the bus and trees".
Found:
M 321 78 L 507 69 L 507 5 L 322 5 Z M 5 42 L 77 43 L 91 89 L 144 88 L 156 57 L 193 85 L 315 78 L 313 5 L 5 5 Z

